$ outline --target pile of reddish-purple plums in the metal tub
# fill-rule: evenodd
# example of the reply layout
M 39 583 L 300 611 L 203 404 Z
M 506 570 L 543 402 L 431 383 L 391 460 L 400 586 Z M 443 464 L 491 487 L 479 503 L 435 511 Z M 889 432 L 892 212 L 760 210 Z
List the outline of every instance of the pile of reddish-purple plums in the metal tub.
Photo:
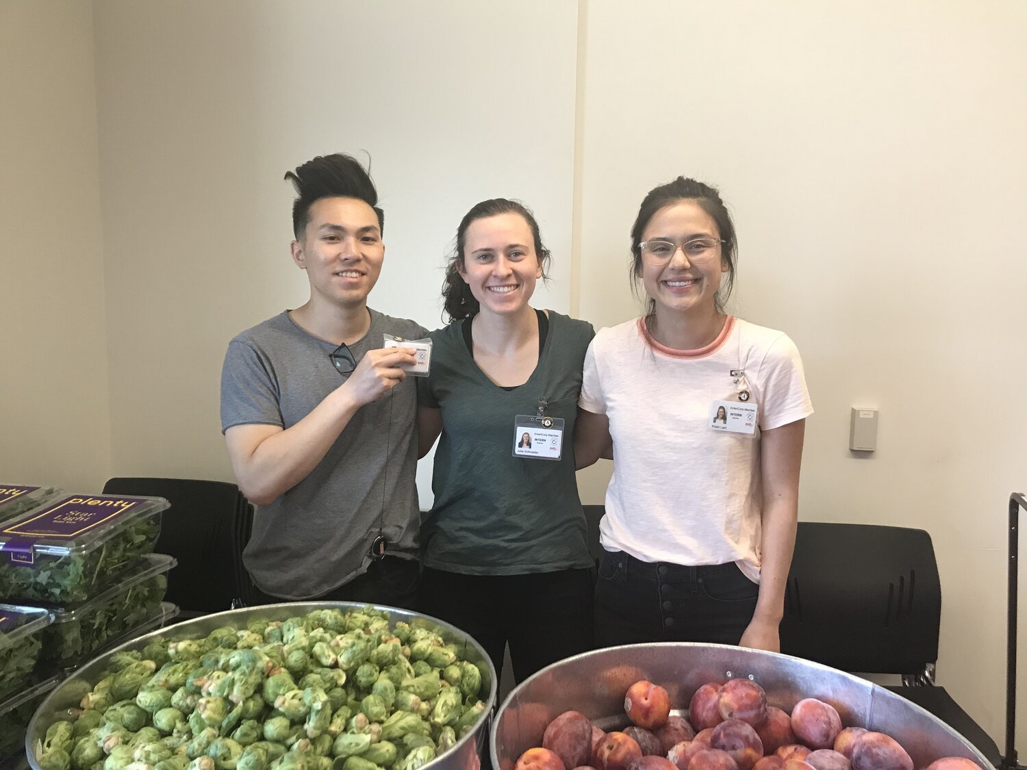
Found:
M 624 711 L 632 726 L 609 733 L 564 711 L 515 770 L 914 770 L 906 749 L 884 733 L 843 728 L 834 706 L 815 698 L 800 700 L 791 714 L 768 706 L 763 688 L 748 679 L 702 685 L 687 720 L 671 715 L 662 687 L 636 682 Z M 927 770 L 981 768 L 945 757 Z

